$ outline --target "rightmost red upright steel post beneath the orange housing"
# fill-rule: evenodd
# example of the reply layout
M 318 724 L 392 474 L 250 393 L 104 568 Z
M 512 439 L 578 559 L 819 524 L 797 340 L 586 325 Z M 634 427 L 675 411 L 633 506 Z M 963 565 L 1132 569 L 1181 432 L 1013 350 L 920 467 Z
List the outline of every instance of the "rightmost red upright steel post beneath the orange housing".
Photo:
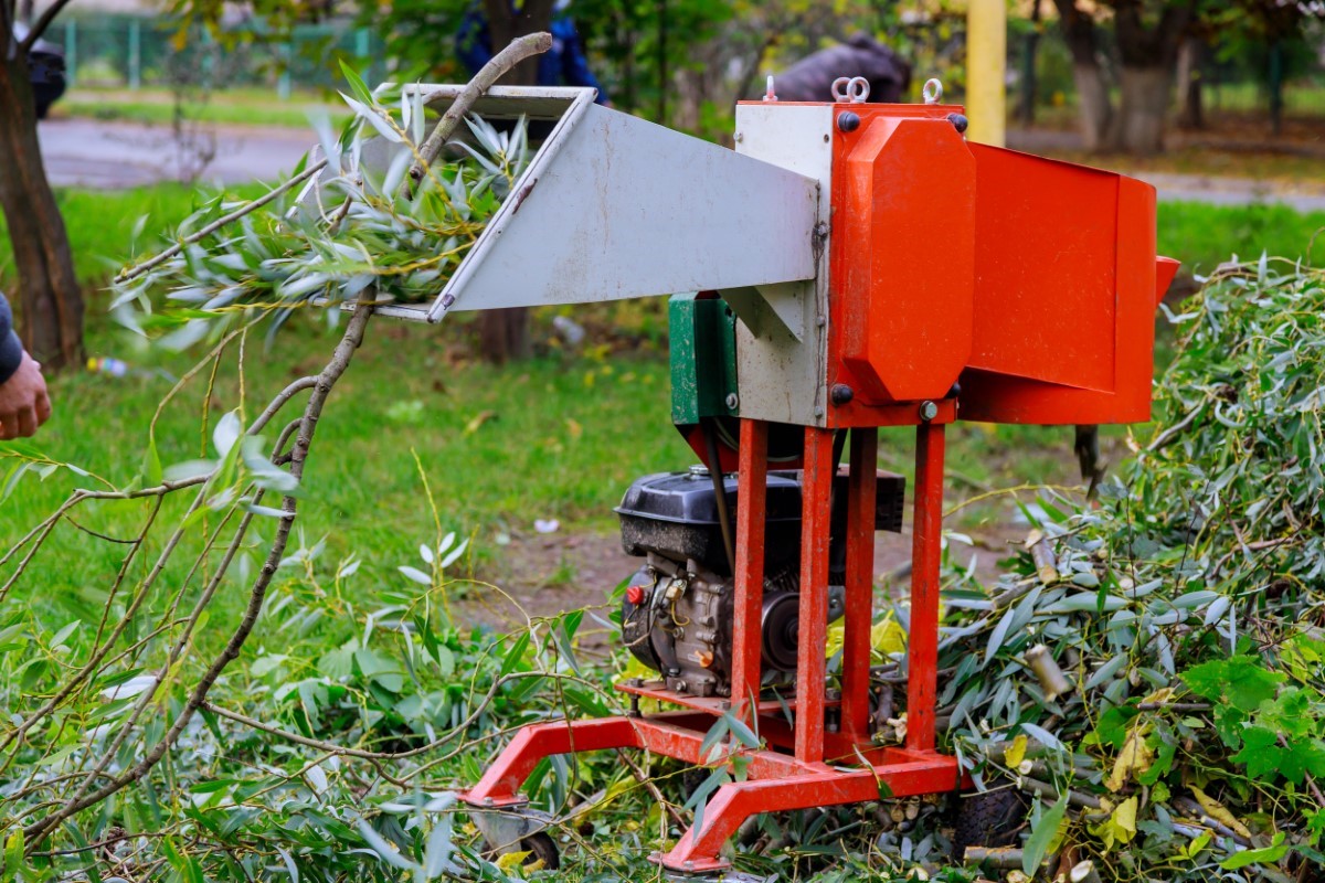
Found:
M 906 747 L 934 748 L 938 695 L 938 564 L 943 532 L 943 426 L 916 428 L 916 519 L 906 659 Z

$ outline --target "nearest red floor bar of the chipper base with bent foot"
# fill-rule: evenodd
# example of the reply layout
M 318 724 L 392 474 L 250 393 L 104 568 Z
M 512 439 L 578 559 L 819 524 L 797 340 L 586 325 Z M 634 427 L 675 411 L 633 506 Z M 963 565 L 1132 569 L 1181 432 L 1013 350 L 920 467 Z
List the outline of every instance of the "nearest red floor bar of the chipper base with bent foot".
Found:
M 704 809 L 704 830 L 692 826 L 676 847 L 657 860 L 674 871 L 713 871 L 726 867 L 718 857 L 722 845 L 741 822 L 757 813 L 775 813 L 811 806 L 835 806 L 878 800 L 881 785 L 894 797 L 954 790 L 957 761 L 934 755 L 925 760 L 857 769 L 825 770 L 780 780 L 731 782 L 714 792 Z

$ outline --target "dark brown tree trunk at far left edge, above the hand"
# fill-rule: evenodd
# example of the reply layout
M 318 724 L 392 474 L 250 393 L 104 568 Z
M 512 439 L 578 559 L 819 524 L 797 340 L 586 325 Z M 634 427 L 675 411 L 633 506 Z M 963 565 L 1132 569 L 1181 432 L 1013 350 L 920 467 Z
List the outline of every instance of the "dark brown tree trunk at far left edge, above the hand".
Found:
M 0 37 L 0 48 L 7 42 Z M 0 53 L 0 210 L 19 271 L 23 344 L 45 368 L 60 369 L 82 360 L 82 293 L 41 162 L 28 56 L 13 54 Z

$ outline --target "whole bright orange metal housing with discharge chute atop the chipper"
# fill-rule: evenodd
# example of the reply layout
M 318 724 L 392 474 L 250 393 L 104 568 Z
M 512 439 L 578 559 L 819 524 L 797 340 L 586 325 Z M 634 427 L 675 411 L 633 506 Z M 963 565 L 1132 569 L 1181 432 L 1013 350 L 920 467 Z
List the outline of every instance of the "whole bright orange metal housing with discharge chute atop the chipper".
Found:
M 967 143 L 961 107 L 835 105 L 827 383 L 831 426 L 945 398 L 959 418 L 1150 417 L 1155 256 L 1142 181 Z

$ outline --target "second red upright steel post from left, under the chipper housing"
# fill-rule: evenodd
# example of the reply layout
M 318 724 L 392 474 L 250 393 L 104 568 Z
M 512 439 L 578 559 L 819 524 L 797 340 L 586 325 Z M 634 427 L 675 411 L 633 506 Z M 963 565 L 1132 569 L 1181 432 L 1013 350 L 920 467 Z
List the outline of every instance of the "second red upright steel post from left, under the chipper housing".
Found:
M 800 645 L 796 647 L 796 760 L 824 756 L 824 645 L 828 641 L 828 532 L 833 430 L 806 428 L 800 483 Z

